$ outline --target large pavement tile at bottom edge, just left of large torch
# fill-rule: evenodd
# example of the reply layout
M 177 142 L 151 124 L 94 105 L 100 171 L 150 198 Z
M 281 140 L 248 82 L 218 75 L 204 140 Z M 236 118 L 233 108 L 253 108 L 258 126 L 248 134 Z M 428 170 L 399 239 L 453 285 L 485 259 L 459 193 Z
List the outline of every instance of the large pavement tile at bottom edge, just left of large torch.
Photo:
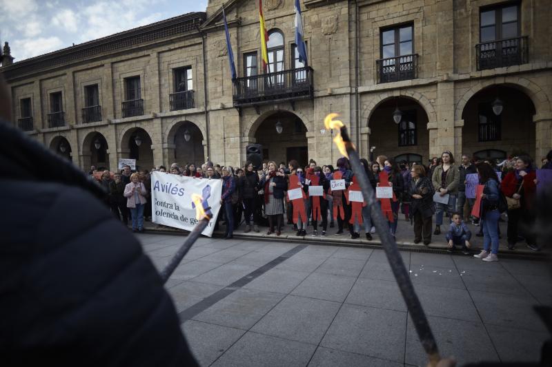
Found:
M 344 304 L 320 346 L 402 363 L 406 313 Z

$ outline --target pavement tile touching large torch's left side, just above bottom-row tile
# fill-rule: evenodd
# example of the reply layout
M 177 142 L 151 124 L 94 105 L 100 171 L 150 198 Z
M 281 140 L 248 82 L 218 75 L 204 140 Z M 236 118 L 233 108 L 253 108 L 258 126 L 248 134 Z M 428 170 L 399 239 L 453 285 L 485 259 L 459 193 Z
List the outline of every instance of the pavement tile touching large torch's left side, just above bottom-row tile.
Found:
M 345 303 L 406 312 L 406 304 L 394 281 L 359 278 Z

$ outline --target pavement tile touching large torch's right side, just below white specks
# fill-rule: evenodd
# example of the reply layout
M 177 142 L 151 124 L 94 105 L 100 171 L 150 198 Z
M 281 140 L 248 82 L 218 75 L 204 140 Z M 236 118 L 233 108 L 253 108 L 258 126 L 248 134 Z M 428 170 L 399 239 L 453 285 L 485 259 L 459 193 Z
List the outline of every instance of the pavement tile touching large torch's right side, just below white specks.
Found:
M 470 294 L 465 289 L 415 284 L 416 294 L 426 315 L 480 321 Z

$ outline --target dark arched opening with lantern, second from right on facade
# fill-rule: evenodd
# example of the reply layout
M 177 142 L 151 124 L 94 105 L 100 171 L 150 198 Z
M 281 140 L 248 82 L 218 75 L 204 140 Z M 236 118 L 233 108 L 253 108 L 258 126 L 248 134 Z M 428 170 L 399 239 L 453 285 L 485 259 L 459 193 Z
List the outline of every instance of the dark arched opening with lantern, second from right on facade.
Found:
M 399 123 L 395 123 L 394 114 Z M 427 123 L 424 108 L 413 99 L 395 97 L 382 102 L 368 120 L 370 159 L 387 156 L 423 164 L 429 158 Z

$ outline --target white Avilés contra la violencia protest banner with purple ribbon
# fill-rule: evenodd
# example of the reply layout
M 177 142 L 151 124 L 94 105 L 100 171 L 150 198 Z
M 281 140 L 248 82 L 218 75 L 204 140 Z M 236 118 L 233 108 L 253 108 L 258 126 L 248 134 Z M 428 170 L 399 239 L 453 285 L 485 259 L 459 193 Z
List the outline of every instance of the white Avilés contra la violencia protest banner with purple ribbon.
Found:
M 197 224 L 192 194 L 207 202 L 213 213 L 209 225 L 201 234 L 211 236 L 220 209 L 222 180 L 206 180 L 186 176 L 151 173 L 152 222 L 192 231 Z

